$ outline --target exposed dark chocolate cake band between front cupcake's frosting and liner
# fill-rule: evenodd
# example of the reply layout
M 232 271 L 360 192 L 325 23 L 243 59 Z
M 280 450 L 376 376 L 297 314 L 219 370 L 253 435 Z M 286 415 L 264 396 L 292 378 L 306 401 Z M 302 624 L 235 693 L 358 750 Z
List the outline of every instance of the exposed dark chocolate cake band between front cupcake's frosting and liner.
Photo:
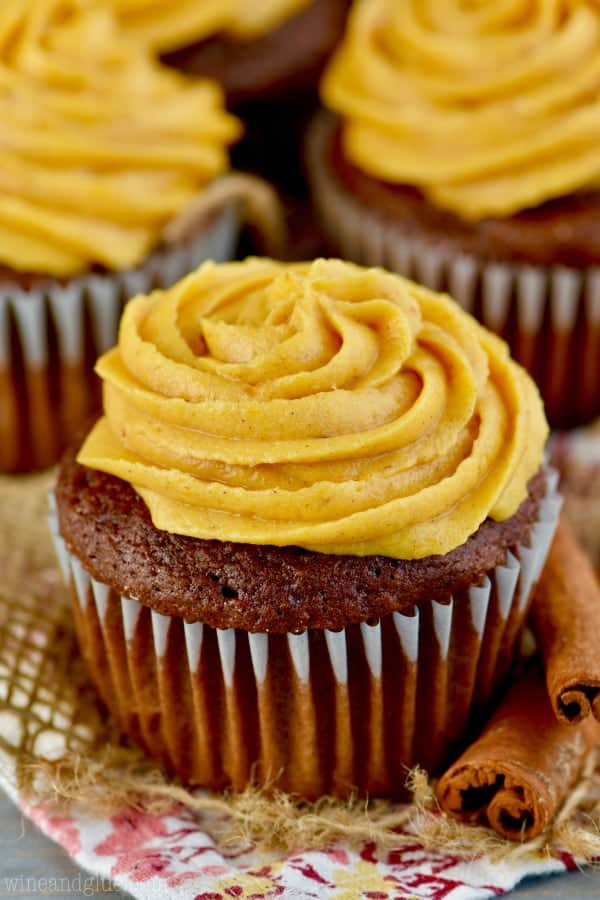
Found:
M 477 584 L 528 543 L 545 492 L 540 470 L 506 521 L 486 519 L 450 553 L 399 560 L 159 531 L 127 482 L 79 465 L 75 449 L 63 458 L 56 488 L 61 534 L 94 578 L 163 615 L 273 633 L 340 629 Z

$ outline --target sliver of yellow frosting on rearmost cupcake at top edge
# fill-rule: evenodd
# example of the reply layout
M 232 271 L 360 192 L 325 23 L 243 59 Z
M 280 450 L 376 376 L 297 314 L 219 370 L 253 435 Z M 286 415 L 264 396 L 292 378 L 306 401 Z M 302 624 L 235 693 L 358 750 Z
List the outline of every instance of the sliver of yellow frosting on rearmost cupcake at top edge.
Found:
M 123 28 L 166 52 L 215 35 L 251 41 L 282 25 L 311 0 L 110 0 Z

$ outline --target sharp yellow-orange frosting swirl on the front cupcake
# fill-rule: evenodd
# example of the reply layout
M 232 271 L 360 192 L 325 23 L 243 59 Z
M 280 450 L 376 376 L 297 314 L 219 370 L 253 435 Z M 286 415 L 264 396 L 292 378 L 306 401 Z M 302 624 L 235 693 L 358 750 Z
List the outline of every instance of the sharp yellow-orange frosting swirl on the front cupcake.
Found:
M 447 296 L 337 260 L 207 263 L 139 296 L 79 462 L 193 538 L 418 559 L 512 516 L 547 424 Z

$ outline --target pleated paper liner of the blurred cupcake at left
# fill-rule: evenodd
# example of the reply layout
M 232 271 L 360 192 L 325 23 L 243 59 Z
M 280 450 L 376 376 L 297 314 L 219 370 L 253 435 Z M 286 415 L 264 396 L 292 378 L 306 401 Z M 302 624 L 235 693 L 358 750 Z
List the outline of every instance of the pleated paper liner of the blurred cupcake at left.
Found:
M 205 259 L 231 259 L 237 207 L 137 269 L 67 285 L 0 288 L 0 472 L 45 468 L 99 408 L 96 358 L 114 345 L 126 300 L 173 284 Z

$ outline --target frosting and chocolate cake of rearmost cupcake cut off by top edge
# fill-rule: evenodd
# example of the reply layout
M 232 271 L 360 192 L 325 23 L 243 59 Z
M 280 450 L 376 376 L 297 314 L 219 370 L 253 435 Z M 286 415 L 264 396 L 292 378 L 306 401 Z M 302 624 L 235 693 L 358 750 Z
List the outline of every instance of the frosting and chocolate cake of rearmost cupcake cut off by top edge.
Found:
M 111 0 L 123 29 L 236 105 L 314 87 L 341 36 L 340 0 Z

